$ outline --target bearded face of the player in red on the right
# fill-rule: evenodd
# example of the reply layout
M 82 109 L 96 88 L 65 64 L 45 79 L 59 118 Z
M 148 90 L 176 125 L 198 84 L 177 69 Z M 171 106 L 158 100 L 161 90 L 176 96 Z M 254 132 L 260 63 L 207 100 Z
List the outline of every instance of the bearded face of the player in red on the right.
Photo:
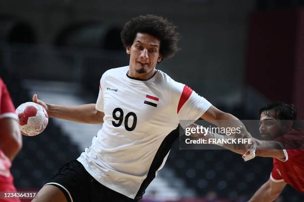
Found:
M 263 140 L 273 140 L 283 135 L 281 122 L 274 117 L 273 111 L 269 111 L 268 115 L 261 113 L 259 130 Z

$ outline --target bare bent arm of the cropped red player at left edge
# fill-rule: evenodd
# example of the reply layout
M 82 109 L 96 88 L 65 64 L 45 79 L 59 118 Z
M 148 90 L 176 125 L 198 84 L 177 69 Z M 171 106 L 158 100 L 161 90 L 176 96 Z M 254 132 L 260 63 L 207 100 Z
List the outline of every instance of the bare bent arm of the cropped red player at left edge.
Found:
M 1 118 L 0 129 L 0 149 L 12 161 L 22 148 L 18 122 L 13 118 Z

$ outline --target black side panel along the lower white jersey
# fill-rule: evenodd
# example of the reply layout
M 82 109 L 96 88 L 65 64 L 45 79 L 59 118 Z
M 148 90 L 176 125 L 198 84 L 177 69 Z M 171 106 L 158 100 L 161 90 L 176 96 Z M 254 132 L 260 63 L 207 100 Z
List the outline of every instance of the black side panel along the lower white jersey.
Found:
M 158 170 L 160 165 L 163 162 L 164 157 L 168 154 L 170 151 L 170 148 L 172 147 L 174 141 L 178 138 L 179 132 L 178 129 L 173 130 L 171 133 L 169 133 L 165 139 L 160 144 L 149 169 L 147 178 L 143 181 L 140 189 L 138 190 L 135 200 L 140 200 L 143 198 L 143 195 L 145 193 L 145 190 L 147 189 L 148 185 L 152 182 L 152 180 L 155 178 L 155 172 Z

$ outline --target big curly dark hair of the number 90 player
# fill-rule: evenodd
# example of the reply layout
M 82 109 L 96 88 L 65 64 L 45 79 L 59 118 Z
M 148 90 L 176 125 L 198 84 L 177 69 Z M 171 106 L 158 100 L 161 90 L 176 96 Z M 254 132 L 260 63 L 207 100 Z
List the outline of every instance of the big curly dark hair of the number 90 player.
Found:
M 132 46 L 137 33 L 146 33 L 156 37 L 160 40 L 159 53 L 164 59 L 172 57 L 179 50 L 177 42 L 180 34 L 175 31 L 175 28 L 163 17 L 152 14 L 140 15 L 125 24 L 120 36 L 125 48 Z

